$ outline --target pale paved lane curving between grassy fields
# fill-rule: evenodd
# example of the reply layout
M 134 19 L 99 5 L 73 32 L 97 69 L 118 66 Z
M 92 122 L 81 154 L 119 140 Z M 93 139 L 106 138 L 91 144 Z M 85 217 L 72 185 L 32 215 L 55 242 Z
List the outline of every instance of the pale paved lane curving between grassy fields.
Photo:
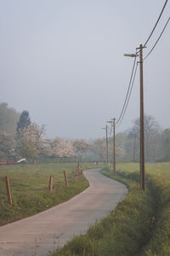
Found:
M 127 188 L 99 170 L 84 172 L 90 187 L 70 201 L 0 228 L 0 256 L 47 255 L 91 224 L 105 218 L 127 194 Z

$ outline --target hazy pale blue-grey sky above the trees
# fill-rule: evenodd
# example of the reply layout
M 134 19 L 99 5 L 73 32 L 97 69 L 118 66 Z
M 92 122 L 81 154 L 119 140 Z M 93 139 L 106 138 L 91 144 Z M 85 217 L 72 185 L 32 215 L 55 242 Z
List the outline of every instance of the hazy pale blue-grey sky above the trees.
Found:
M 133 58 L 165 0 L 0 0 L 0 102 L 45 125 L 48 137 L 104 137 L 118 119 Z M 144 56 L 170 15 L 170 3 Z M 144 112 L 170 128 L 170 24 L 144 61 Z M 139 69 L 116 132 L 139 117 Z

